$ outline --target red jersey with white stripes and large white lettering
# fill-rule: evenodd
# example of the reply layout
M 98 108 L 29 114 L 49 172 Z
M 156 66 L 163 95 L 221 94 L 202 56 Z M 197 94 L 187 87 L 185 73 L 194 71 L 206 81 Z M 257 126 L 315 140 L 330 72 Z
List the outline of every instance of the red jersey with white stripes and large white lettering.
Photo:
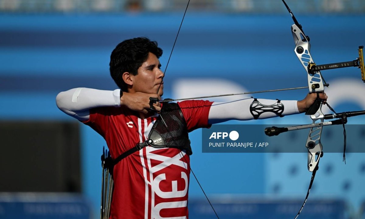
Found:
M 188 131 L 210 127 L 210 101 L 187 100 L 178 103 Z M 97 131 L 109 147 L 111 157 L 148 139 L 158 114 L 140 119 L 125 107 L 90 110 L 84 123 Z M 188 218 L 190 159 L 175 148 L 144 147 L 114 167 L 111 219 Z

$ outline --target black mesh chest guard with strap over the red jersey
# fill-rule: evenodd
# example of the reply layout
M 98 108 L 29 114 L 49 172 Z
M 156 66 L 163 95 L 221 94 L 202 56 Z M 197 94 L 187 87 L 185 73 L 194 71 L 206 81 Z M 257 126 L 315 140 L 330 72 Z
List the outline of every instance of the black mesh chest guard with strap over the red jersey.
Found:
M 148 139 L 119 155 L 114 160 L 114 165 L 146 146 L 172 147 L 185 150 L 188 155 L 192 154 L 187 124 L 177 103 L 164 103 Z

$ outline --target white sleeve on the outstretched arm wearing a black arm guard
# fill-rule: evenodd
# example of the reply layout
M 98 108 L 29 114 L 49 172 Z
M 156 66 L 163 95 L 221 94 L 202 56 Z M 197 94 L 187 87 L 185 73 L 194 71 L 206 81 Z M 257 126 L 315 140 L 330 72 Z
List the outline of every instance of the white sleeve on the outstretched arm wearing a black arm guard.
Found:
M 250 112 L 250 105 L 253 98 L 240 99 L 231 102 L 214 102 L 210 108 L 208 123 L 215 124 L 226 122 L 228 120 L 250 120 L 254 119 Z M 257 99 L 261 104 L 272 105 L 277 100 Z M 299 114 L 296 100 L 281 100 L 284 105 L 283 116 Z M 277 116 L 273 112 L 264 112 L 259 119 L 271 118 Z

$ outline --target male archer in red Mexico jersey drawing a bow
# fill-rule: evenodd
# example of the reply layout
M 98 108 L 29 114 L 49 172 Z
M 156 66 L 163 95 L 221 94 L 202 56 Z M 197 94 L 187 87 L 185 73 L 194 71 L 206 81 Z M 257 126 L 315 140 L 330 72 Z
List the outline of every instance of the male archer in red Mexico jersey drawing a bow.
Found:
M 120 89 L 74 88 L 57 95 L 57 106 L 97 131 L 109 147 L 114 166 L 110 218 L 188 218 L 188 187 L 192 150 L 188 132 L 227 120 L 254 119 L 254 99 L 227 103 L 161 100 L 164 84 L 157 42 L 147 38 L 119 43 L 110 57 L 110 74 Z M 276 104 L 259 119 L 305 112 L 315 93 L 301 101 L 257 99 Z M 324 93 L 319 98 L 326 100 Z M 158 112 L 158 113 L 157 113 Z

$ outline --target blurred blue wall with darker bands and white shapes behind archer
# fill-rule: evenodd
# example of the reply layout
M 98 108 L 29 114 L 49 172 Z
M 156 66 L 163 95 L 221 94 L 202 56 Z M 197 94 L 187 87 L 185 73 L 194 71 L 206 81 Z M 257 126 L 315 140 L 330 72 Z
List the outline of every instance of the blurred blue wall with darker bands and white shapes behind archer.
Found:
M 164 50 L 160 59 L 164 69 L 181 18 L 181 13 L 0 14 L 0 119 L 72 120 L 58 110 L 55 96 L 60 91 L 75 87 L 116 89 L 108 72 L 109 56 L 124 39 L 147 36 L 158 41 Z M 365 43 L 365 16 L 300 16 L 297 19 L 306 34 L 310 35 L 311 54 L 317 64 L 356 59 L 358 46 Z M 293 52 L 292 23 L 289 15 L 188 13 L 164 79 L 165 97 L 306 86 L 306 72 Z M 323 75 L 327 82 L 334 84 L 332 90 L 328 90 L 333 94 L 328 102 L 335 103 L 333 107 L 336 110 L 365 108 L 364 97 L 357 95 L 364 91 L 360 70 L 333 70 L 323 72 Z M 183 89 L 189 84 L 196 85 L 195 89 L 184 92 Z M 362 90 L 355 90 L 357 86 Z M 303 99 L 306 92 L 265 93 L 255 97 Z M 239 124 L 310 122 L 304 115 L 295 115 Z M 358 124 L 364 122 L 364 118 L 355 121 Z M 105 142 L 87 126 L 81 125 L 81 133 L 82 188 L 97 214 L 100 203 L 100 154 Z M 192 132 L 190 137 L 194 151 L 192 170 L 208 195 L 276 193 L 304 198 L 310 179 L 310 173 L 306 170 L 306 154 L 284 155 L 278 162 L 280 166 L 273 166 L 275 161 L 267 154 L 203 154 L 200 149 L 201 131 Z M 342 138 L 339 139 L 341 142 Z M 352 157 L 356 164 L 364 164 L 361 156 Z M 332 158 L 329 156 L 327 159 Z M 285 166 L 298 160 L 300 177 L 280 175 Z M 333 158 L 332 161 L 341 164 L 341 159 Z M 347 166 L 343 169 L 345 172 L 350 170 L 352 168 Z M 341 178 L 341 171 L 331 177 Z M 364 175 L 359 176 L 358 172 L 352 174 L 353 181 L 364 179 Z M 276 183 L 281 183 L 286 189 L 278 190 Z M 299 189 L 297 183 L 300 184 Z M 349 200 L 356 196 L 355 203 L 351 203 L 355 206 L 364 199 L 364 193 L 356 193 L 359 189 L 356 186 L 353 187 L 354 192 L 350 192 L 354 195 L 350 196 L 344 195 L 346 191 L 334 185 L 328 187 L 331 188 L 328 192 L 334 196 Z M 324 195 L 320 191 L 315 194 Z M 189 195 L 203 196 L 194 179 L 191 180 Z

